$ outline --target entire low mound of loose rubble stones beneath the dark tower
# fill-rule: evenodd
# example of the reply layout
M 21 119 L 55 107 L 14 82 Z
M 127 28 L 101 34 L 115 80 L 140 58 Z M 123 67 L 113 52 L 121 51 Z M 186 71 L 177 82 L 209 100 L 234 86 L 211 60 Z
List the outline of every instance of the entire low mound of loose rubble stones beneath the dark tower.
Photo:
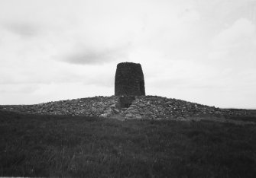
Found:
M 0 105 L 0 110 L 18 113 L 122 117 L 125 119 L 186 119 L 203 114 L 247 116 L 246 110 L 224 110 L 214 106 L 157 96 L 137 96 L 128 108 L 120 107 L 120 97 L 87 97 L 34 105 Z

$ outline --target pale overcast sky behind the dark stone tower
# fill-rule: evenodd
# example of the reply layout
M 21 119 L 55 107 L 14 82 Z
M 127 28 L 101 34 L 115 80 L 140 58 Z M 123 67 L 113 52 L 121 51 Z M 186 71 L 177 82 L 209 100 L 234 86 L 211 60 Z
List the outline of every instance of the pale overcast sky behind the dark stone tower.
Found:
M 114 94 L 118 62 L 147 95 L 256 108 L 256 0 L 0 0 L 0 104 Z

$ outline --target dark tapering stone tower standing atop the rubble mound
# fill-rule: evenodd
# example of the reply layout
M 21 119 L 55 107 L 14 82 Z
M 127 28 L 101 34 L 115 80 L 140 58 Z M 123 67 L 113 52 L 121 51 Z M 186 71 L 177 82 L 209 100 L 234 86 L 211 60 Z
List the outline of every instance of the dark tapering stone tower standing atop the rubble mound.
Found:
M 122 62 L 115 72 L 115 96 L 145 95 L 144 75 L 140 64 Z

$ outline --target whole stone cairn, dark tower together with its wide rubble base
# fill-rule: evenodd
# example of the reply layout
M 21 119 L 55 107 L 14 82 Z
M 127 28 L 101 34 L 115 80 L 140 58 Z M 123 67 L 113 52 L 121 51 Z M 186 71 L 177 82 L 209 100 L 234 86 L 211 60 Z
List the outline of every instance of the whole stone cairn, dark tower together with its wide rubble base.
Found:
M 247 116 L 246 110 L 224 110 L 166 97 L 145 96 L 144 75 L 140 64 L 122 62 L 115 73 L 115 96 L 60 100 L 34 105 L 0 105 L 0 111 L 18 113 L 100 116 L 118 114 L 125 119 L 183 119 L 202 114 Z

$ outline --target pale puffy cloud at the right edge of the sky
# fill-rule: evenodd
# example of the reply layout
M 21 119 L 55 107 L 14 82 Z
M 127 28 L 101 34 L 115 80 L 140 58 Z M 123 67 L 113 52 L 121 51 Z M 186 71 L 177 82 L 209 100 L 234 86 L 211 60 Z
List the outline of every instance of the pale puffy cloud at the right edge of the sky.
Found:
M 230 27 L 212 38 L 209 59 L 219 68 L 232 66 L 236 70 L 254 70 L 256 65 L 255 25 L 246 18 L 240 18 Z M 230 63 L 232 62 L 232 63 Z

